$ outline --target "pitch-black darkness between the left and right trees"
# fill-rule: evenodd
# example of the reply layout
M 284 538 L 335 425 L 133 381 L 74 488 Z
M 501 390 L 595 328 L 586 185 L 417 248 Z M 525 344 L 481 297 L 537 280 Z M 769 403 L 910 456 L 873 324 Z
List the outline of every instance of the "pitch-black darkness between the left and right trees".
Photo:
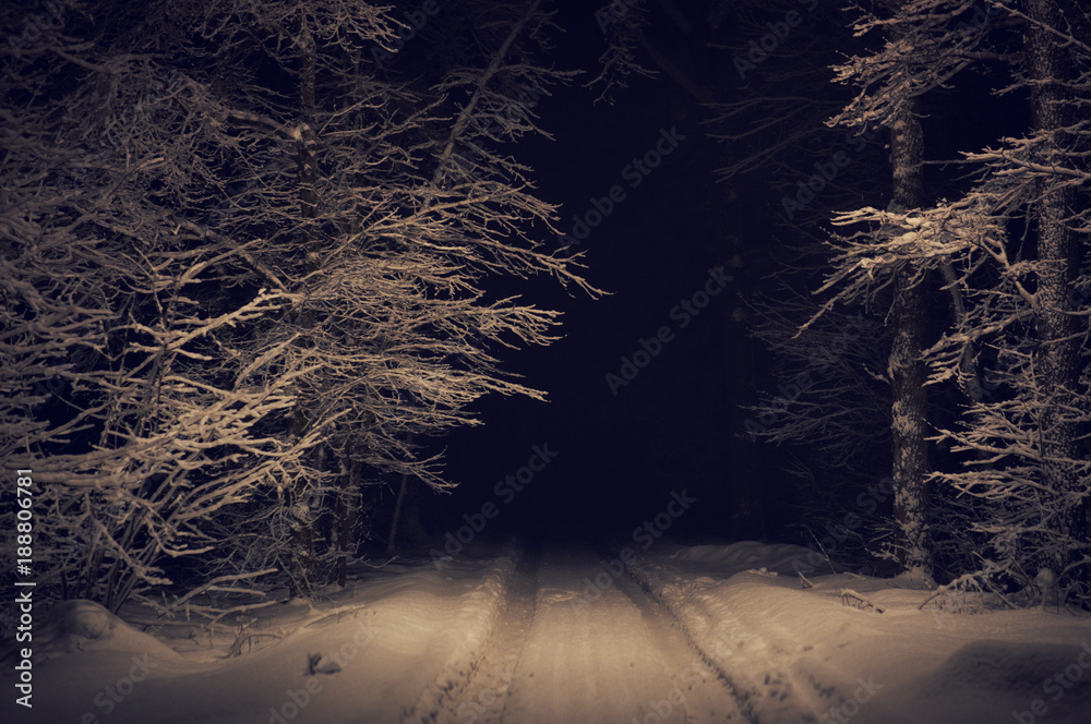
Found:
M 542 197 L 560 205 L 559 228 L 565 231 L 573 228 L 574 215 L 592 208 L 592 197 L 607 197 L 614 184 L 625 189 L 626 198 L 577 246 L 586 252 L 588 280 L 610 294 L 599 300 L 578 292 L 570 297 L 552 279 L 529 286 L 497 280 L 497 294 L 524 294 L 564 312 L 564 339 L 544 349 L 502 354 L 505 369 L 546 390 L 550 401 L 484 399 L 477 406 L 483 425 L 441 442 L 448 478 L 458 487 L 422 502 L 432 534 L 457 530 L 464 516 L 493 502 L 501 512 L 487 534 L 627 538 L 635 526 L 666 508 L 672 491 L 685 490 L 698 503 L 672 522 L 672 535 L 691 542 L 810 544 L 814 532 L 820 535 L 846 505 L 837 496 L 851 500 L 853 485 L 874 484 L 889 474 L 889 441 L 882 432 L 888 420 L 874 431 L 853 433 L 866 441 L 860 445 L 866 449 L 850 461 L 855 470 L 849 474 L 824 468 L 822 450 L 816 457 L 808 448 L 804 455 L 813 470 L 813 461 L 819 461 L 811 483 L 787 470 L 808 442 L 777 446 L 746 434 L 747 420 L 757 415 L 750 406 L 799 371 L 753 337 L 759 322 L 755 304 L 776 306 L 777 299 L 810 297 L 828 272 L 823 261 L 828 252 L 815 250 L 835 231 L 830 217 L 839 209 L 882 208 L 889 202 L 883 131 L 862 147 L 853 144 L 850 166 L 795 218 L 787 219 L 781 204 L 800 179 L 814 173 L 815 162 L 846 147 L 848 132 L 830 129 L 826 121 L 855 93 L 834 83 L 831 70 L 861 51 L 848 16 L 838 7 L 819 3 L 743 81 L 734 59 L 799 2 L 727 3 L 729 14 L 715 31 L 707 23 L 706 3 L 675 3 L 692 23 L 688 34 L 666 15 L 664 3 L 645 4 L 650 44 L 712 99 L 763 100 L 739 117 L 717 119 L 637 48 L 638 61 L 658 71 L 656 77 L 633 76 L 626 87 L 614 89 L 615 102 L 596 101 L 601 88 L 584 85 L 598 74 L 607 47 L 595 17 L 598 5 L 558 3 L 556 23 L 565 32 L 558 36 L 554 64 L 584 74 L 538 106 L 541 125 L 555 140 L 528 138 L 516 153 L 535 169 Z M 980 148 L 1027 126 L 1020 94 L 994 101 L 997 112 L 981 117 L 980 99 L 997 84 L 994 72 L 975 69 L 960 76 L 957 86 L 927 94 L 922 124 L 928 200 L 960 193 L 966 170 L 951 164 L 960 149 Z M 788 100 L 778 105 L 778 98 Z M 765 130 L 741 141 L 712 137 L 756 126 Z M 631 188 L 622 169 L 655 146 L 661 129 L 672 128 L 685 141 L 638 188 Z M 786 150 L 754 170 L 729 179 L 720 173 L 789 136 L 795 140 Z M 547 244 L 559 242 L 549 238 Z M 688 326 L 679 328 L 671 309 L 699 290 L 712 267 L 722 267 L 732 281 Z M 949 317 L 945 293 L 933 289 L 931 303 L 930 318 Z M 606 375 L 620 374 L 622 358 L 632 359 L 640 339 L 652 338 L 661 325 L 674 331 L 673 341 L 614 395 Z M 886 366 L 885 334 L 878 328 L 856 342 L 867 348 L 865 357 L 875 358 L 873 369 Z M 933 402 L 937 420 L 956 414 L 944 400 Z M 494 486 L 526 464 L 533 445 L 544 443 L 556 459 L 513 503 L 503 504 Z

